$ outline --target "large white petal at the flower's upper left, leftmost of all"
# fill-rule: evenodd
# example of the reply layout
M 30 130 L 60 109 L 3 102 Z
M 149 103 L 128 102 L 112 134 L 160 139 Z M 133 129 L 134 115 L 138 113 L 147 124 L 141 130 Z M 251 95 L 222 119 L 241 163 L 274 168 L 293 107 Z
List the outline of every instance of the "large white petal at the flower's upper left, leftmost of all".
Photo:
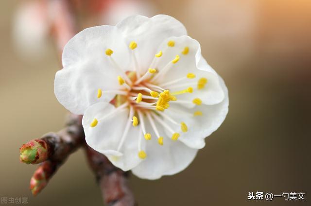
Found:
M 128 64 L 128 48 L 117 28 L 98 26 L 88 28 L 69 40 L 63 52 L 64 69 L 55 76 L 54 92 L 58 101 L 70 112 L 83 114 L 94 103 L 110 102 L 112 94 L 98 99 L 98 89 L 120 88 L 117 68 L 105 50 L 114 50 L 112 58 L 121 67 Z

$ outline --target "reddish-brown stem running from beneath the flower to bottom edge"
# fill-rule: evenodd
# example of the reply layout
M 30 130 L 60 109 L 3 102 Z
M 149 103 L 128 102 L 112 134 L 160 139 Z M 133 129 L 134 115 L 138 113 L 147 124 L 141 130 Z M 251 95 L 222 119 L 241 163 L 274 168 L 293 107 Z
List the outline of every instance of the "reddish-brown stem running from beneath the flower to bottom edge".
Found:
M 89 166 L 102 189 L 104 203 L 108 206 L 135 206 L 134 195 L 128 184 L 128 172 L 113 166 L 103 154 L 88 145 L 85 145 L 85 151 Z

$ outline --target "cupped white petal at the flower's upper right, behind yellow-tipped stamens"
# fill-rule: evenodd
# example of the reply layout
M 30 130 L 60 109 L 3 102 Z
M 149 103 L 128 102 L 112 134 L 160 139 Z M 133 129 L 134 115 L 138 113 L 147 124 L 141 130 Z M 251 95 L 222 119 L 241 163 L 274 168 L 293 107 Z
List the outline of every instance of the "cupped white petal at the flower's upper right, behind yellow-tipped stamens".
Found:
M 173 40 L 175 42 L 175 46 L 168 48 L 166 53 L 163 53 L 163 56 L 160 58 L 157 65 L 158 69 L 164 69 L 167 64 L 170 64 L 177 54 L 180 59 L 176 64 L 172 65 L 172 68 L 168 70 L 166 75 L 162 78 L 158 78 L 156 81 L 161 85 L 175 79 L 186 77 L 188 73 L 194 73 L 196 78 L 185 79 L 173 85 L 166 86 L 165 89 L 170 89 L 172 92 L 183 90 L 189 86 L 176 86 L 193 83 L 193 86 L 191 86 L 193 87 L 193 93 L 180 95 L 177 99 L 184 101 L 189 100 L 191 102 L 194 98 L 200 98 L 205 104 L 216 104 L 223 101 L 224 91 L 219 85 L 218 75 L 203 58 L 199 42 L 189 36 L 170 37 L 161 44 L 159 50 L 167 48 L 167 42 L 169 40 Z M 189 52 L 186 55 L 182 53 L 185 47 L 189 48 Z M 200 78 L 206 78 L 208 82 L 203 89 L 197 90 L 197 82 Z M 193 107 L 194 105 L 186 104 L 185 106 Z

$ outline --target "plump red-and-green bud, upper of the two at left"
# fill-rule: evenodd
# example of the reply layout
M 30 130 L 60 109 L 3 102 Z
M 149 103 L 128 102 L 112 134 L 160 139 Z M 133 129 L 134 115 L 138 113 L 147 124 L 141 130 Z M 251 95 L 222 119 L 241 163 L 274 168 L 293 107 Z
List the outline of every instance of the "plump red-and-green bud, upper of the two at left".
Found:
M 47 143 L 33 139 L 19 148 L 19 159 L 26 164 L 38 164 L 48 159 Z

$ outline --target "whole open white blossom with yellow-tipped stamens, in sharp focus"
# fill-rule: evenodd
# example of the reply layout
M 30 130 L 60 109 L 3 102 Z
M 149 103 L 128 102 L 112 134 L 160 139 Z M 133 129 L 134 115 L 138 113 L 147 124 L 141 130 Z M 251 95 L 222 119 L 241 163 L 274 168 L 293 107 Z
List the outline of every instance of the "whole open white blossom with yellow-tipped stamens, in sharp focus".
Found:
M 63 67 L 55 95 L 84 114 L 86 143 L 140 178 L 184 170 L 228 112 L 224 81 L 170 16 L 88 28 L 66 45 Z

